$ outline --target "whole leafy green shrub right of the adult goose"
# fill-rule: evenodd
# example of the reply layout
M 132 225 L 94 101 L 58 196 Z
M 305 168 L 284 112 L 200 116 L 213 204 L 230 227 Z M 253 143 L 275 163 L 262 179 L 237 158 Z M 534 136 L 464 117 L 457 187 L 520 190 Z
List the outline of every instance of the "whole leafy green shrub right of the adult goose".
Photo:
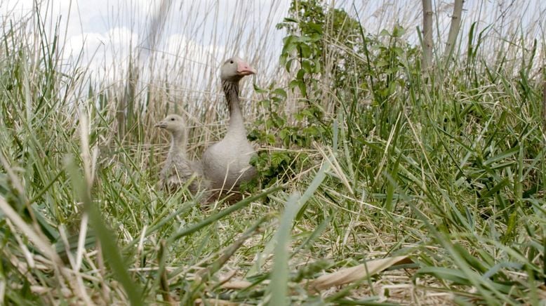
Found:
M 355 18 L 342 9 L 327 8 L 314 0 L 293 1 L 289 15 L 277 25 L 288 32 L 280 62 L 288 72 L 295 67 L 288 90 L 297 88 L 301 102 L 295 114 L 289 114 L 283 107 L 287 98 L 285 88 L 276 88 L 274 84 L 267 89 L 255 86 L 257 93 L 265 95 L 260 100 L 265 112 L 260 112 L 248 138 L 262 146 L 283 150 L 258 153 L 252 164 L 259 177 L 246 184 L 249 189 L 259 186 L 258 182 L 269 186 L 289 180 L 293 173 L 309 166 L 307 154 L 298 149 L 309 147 L 314 141 L 331 141 L 331 120 L 324 111 L 325 97 L 330 95 L 335 97 L 334 112 L 341 107 L 349 121 L 361 120 L 357 129 L 349 125 L 349 134 L 359 131 L 361 135 L 363 129 L 367 134 L 375 128 L 365 123 L 369 120 L 367 115 L 360 116 L 366 111 L 363 102 L 368 100 L 368 105 L 380 106 L 373 120 L 380 126 L 381 135 L 387 137 L 387 123 L 396 118 L 389 118 L 394 113 L 384 104 L 397 91 L 410 86 L 409 81 L 416 79 L 418 73 L 418 68 L 409 68 L 418 58 L 417 49 L 401 39 L 402 27 L 396 26 L 392 32 L 384 30 L 378 37 L 364 36 Z M 356 58 L 356 54 L 366 54 L 366 60 Z M 330 82 L 327 87 L 321 83 L 326 79 Z M 364 95 L 373 98 L 363 100 Z M 352 142 L 361 141 L 359 135 L 352 135 L 355 138 Z

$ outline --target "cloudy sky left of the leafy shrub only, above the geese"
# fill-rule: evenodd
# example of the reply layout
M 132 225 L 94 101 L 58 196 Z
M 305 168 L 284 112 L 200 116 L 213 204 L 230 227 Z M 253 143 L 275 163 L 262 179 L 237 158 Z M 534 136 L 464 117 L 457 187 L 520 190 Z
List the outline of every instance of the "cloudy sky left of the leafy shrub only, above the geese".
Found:
M 2 21 L 29 14 L 33 2 L 1 0 Z M 143 62 L 155 53 L 162 62 L 173 65 L 182 61 L 204 66 L 218 64 L 227 52 L 244 58 L 250 53 L 248 50 L 260 44 L 255 37 L 267 27 L 274 27 L 288 10 L 288 1 L 273 2 L 51 0 L 42 1 L 41 14 L 50 31 L 55 21 L 60 22 L 67 60 L 79 58 L 79 64 L 88 65 L 92 71 L 116 74 L 112 64 L 116 66 L 135 51 Z M 170 4 L 167 14 L 161 13 L 161 4 Z M 267 8 L 262 10 L 262 6 Z M 233 16 L 244 20 L 234 21 Z M 267 19 L 268 24 L 263 22 Z M 156 28 L 162 28 L 161 35 L 150 33 Z M 242 37 L 233 37 L 230 30 L 241 32 Z M 157 41 L 147 39 L 157 36 Z M 241 46 L 234 48 L 227 43 L 228 38 L 241 41 Z M 266 45 L 279 45 L 281 38 L 280 32 L 270 35 Z

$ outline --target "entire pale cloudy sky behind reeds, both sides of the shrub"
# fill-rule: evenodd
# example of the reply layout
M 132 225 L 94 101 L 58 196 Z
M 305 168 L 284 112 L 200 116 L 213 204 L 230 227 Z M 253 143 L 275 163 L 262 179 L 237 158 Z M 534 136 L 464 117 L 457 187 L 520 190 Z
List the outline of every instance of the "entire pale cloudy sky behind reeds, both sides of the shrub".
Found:
M 438 32 L 446 32 L 452 1 L 433 2 L 439 12 Z M 0 22 L 22 18 L 33 4 L 34 0 L 1 0 Z M 40 11 L 51 32 L 60 22 L 67 62 L 116 77 L 124 75 L 123 63 L 130 53 L 138 53 L 143 66 L 160 65 L 166 73 L 186 69 L 191 84 L 204 81 L 203 75 L 214 72 L 232 54 L 258 68 L 277 67 L 284 33 L 275 25 L 287 15 L 289 5 L 289 0 L 43 0 Z M 334 5 L 353 16 L 356 11 L 372 34 L 399 22 L 415 39 L 422 18 L 420 0 L 335 1 Z M 481 29 L 496 21 L 500 26 L 493 34 L 498 36 L 524 24 L 534 25 L 533 35 L 543 38 L 545 11 L 546 1 L 540 0 L 467 0 L 462 32 L 474 20 L 481 21 Z M 153 35 L 154 31 L 161 35 Z M 194 73 L 203 69 L 202 75 Z

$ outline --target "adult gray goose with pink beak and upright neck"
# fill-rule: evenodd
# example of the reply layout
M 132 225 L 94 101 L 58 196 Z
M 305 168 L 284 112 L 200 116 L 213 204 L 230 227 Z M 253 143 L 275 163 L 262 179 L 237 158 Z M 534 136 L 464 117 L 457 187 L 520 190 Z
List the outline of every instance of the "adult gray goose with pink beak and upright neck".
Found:
M 255 150 L 246 139 L 243 115 L 239 107 L 239 81 L 255 70 L 240 58 L 226 60 L 220 70 L 222 89 L 229 107 L 229 127 L 225 137 L 203 154 L 203 171 L 213 189 L 238 189 L 251 180 L 256 170 L 249 164 Z

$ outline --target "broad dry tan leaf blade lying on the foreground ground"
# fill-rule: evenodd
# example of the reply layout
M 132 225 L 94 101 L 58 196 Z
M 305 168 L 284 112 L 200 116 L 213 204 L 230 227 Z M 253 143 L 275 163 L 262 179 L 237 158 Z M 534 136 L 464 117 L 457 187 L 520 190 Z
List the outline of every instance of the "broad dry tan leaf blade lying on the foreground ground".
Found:
M 396 265 L 397 263 L 407 262 L 408 260 L 411 261 L 408 259 L 407 255 L 370 260 L 366 262 L 366 264 L 345 268 L 323 275 L 312 281 L 309 286 L 318 292 L 333 286 L 349 284 L 354 281 L 364 279 L 365 277 L 370 277 L 373 274 L 377 274 L 382 270 L 391 267 L 392 265 Z

